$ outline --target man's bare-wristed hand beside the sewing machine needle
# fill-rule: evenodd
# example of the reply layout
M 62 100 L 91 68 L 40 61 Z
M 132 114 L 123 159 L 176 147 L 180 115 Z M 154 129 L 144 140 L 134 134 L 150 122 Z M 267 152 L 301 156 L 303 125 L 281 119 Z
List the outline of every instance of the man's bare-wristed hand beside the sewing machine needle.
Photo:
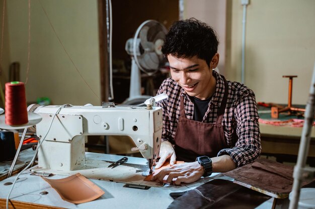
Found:
M 162 141 L 160 148 L 160 159 L 156 163 L 155 169 L 160 168 L 164 162 L 170 158 L 170 165 L 174 165 L 176 162 L 176 154 L 173 145 L 169 141 Z

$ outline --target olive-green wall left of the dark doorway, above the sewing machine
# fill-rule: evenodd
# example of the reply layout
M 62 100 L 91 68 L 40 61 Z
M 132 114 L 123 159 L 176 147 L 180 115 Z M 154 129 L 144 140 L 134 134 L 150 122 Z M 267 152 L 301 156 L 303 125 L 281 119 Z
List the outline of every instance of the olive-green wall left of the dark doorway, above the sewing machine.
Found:
M 9 60 L 20 62 L 21 81 L 25 82 L 28 1 L 6 2 Z M 49 97 L 53 104 L 100 105 L 97 1 L 31 1 L 30 27 L 28 102 Z

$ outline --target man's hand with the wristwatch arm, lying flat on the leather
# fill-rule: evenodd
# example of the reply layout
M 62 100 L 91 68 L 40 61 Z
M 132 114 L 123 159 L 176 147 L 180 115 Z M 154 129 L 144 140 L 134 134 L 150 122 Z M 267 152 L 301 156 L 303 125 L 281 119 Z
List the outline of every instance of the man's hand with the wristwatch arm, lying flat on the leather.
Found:
M 180 185 L 181 183 L 192 183 L 198 180 L 204 173 L 204 167 L 196 162 L 186 162 L 181 164 L 173 165 L 172 167 L 161 170 L 151 178 L 152 181 L 159 180 L 163 181 L 166 175 L 169 175 L 166 179 L 168 183 L 175 183 Z M 173 181 L 173 178 L 177 178 Z

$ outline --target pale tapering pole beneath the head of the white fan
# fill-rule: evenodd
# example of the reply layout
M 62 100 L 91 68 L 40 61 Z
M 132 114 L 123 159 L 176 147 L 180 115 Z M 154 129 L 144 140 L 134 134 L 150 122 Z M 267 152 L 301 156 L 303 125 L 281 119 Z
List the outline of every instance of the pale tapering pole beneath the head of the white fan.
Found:
M 132 99 L 138 96 L 141 96 L 141 73 L 134 58 L 132 57 L 129 99 Z

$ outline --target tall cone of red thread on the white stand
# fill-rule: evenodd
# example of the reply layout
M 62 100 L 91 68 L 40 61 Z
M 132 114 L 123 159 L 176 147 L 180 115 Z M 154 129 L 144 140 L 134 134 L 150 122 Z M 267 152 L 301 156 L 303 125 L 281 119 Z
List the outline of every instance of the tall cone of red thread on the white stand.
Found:
M 23 82 L 6 83 L 5 122 L 8 125 L 28 123 L 25 86 Z

